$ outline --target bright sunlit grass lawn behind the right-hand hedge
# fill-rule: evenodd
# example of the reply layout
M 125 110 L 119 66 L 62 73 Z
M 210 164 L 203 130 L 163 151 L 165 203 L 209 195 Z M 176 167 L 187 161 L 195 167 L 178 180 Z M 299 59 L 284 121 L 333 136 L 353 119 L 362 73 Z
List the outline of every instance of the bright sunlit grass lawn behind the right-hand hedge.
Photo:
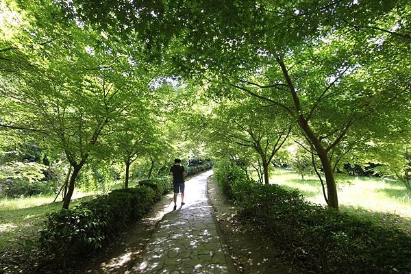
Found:
M 304 180 L 294 171 L 275 169 L 271 184 L 297 188 L 308 201 L 325 204 L 316 175 Z M 340 209 L 376 223 L 399 227 L 411 234 L 411 192 L 401 182 L 376 177 L 336 175 Z

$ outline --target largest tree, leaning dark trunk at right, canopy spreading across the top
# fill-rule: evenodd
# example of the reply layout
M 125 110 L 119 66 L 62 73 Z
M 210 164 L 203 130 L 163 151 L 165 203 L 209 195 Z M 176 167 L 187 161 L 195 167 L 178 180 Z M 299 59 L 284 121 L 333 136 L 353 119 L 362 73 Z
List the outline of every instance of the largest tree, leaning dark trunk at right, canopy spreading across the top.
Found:
M 210 97 L 229 97 L 237 88 L 273 110 L 282 108 L 321 161 L 328 205 L 338 208 L 334 156 L 347 150 L 343 142 L 372 132 L 370 122 L 388 124 L 391 112 L 408 110 L 410 4 L 155 3 L 75 0 L 61 1 L 62 10 L 53 3 L 47 8 L 63 11 L 64 22 L 112 33 L 100 43 L 105 52 L 119 52 L 110 45 L 125 41 L 136 49 L 129 56 L 173 62 L 188 77 L 206 75 L 212 79 L 205 87 Z M 20 5 L 33 10 L 34 4 Z M 213 82 L 223 88 L 212 90 Z

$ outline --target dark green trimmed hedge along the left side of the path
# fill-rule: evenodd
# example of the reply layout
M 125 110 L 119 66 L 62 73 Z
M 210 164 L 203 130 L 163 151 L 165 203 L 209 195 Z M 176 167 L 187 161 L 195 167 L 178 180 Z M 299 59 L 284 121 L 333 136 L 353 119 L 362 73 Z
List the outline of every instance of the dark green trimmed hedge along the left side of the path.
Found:
M 25 269 L 28 273 L 74 273 L 73 266 L 96 258 L 103 247 L 116 242 L 170 187 L 169 177 L 149 179 L 49 214 L 40 233 L 40 255 Z

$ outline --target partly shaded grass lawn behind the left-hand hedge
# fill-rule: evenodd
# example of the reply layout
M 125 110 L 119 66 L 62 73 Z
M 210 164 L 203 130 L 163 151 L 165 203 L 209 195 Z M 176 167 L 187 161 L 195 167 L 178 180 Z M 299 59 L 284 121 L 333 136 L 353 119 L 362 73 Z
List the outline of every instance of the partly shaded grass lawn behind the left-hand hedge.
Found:
M 75 192 L 70 206 L 92 193 Z M 0 199 L 0 252 L 26 245 L 42 229 L 46 214 L 62 208 L 61 197 L 55 195 Z M 82 198 L 82 199 L 79 199 Z

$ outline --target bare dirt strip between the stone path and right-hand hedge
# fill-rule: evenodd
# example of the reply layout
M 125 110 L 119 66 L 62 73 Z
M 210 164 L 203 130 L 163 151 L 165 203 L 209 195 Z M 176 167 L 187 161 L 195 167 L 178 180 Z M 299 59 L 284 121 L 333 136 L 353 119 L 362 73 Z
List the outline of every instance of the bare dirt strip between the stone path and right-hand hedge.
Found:
M 238 273 L 299 273 L 284 264 L 271 240 L 236 217 L 236 208 L 221 194 L 213 177 L 208 179 L 208 196 Z

